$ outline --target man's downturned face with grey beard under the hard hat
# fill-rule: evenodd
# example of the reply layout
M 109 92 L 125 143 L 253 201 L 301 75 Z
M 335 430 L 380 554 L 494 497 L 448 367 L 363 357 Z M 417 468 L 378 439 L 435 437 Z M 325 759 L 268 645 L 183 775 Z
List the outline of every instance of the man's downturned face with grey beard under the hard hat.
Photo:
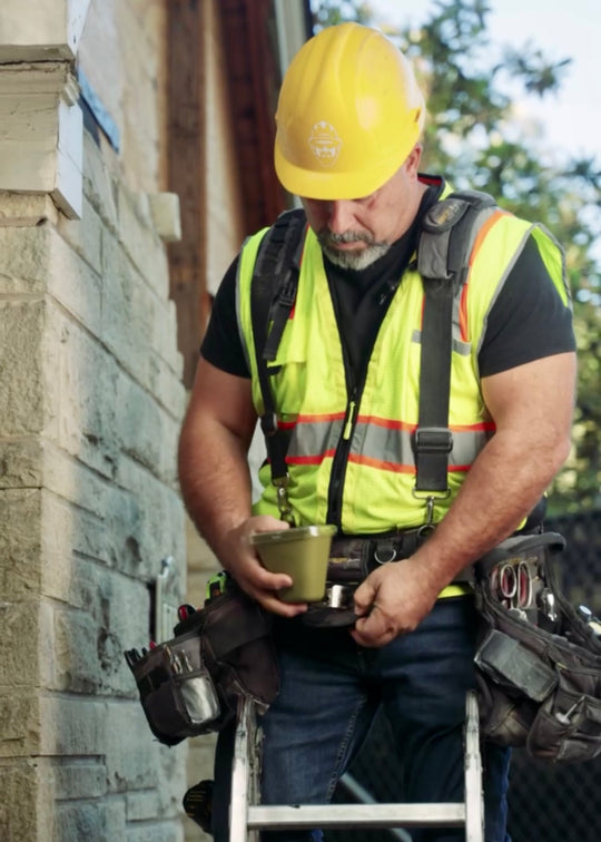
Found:
M 308 224 L 332 263 L 363 270 L 386 254 L 411 227 L 423 193 L 417 180 L 421 153 L 415 146 L 392 178 L 370 196 L 302 199 Z

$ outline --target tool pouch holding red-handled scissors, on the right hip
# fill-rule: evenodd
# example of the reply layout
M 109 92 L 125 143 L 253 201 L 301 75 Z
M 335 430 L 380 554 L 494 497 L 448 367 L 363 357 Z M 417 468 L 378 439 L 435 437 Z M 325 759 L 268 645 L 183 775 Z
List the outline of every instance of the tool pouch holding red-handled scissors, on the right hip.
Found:
M 485 738 L 577 763 L 601 753 L 601 639 L 559 587 L 554 565 L 563 546 L 554 532 L 514 537 L 476 565 L 475 665 Z M 494 565 L 516 559 L 534 566 L 534 591 L 553 594 L 552 626 L 540 609 L 508 609 L 491 587 Z

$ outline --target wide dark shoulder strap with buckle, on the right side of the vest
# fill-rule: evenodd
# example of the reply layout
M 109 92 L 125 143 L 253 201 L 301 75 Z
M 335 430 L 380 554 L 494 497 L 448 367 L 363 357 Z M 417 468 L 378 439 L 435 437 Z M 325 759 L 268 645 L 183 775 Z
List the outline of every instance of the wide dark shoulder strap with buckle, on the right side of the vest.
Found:
M 446 493 L 453 300 L 467 276 L 470 254 L 485 218 L 495 209 L 485 193 L 452 193 L 426 213 L 417 248 L 417 271 L 424 285 L 420 409 L 413 434 L 415 491 Z

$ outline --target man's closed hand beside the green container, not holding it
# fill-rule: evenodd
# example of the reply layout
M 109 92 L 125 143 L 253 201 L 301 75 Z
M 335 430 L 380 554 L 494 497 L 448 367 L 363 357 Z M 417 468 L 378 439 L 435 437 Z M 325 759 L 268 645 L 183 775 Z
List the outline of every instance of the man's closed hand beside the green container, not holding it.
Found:
M 351 635 L 359 646 L 385 646 L 420 625 L 441 589 L 426 581 L 413 559 L 382 565 L 355 591 L 361 618 Z

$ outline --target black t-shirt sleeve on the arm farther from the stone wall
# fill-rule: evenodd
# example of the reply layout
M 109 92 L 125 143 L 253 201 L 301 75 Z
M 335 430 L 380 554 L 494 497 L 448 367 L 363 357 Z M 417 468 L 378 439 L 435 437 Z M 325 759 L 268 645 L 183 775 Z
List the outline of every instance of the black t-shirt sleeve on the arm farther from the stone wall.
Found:
M 571 309 L 530 237 L 489 313 L 477 358 L 480 375 L 574 350 Z

